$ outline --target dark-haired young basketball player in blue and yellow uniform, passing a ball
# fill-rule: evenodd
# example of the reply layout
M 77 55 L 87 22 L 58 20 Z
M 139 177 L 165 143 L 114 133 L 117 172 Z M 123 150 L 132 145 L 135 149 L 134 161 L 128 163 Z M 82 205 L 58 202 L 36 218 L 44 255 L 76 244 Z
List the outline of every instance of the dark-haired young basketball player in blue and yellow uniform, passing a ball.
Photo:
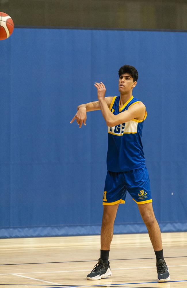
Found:
M 141 142 L 147 116 L 145 105 L 132 96 L 138 71 L 129 65 L 119 69 L 120 96 L 105 97 L 102 82 L 95 83 L 98 101 L 77 107 L 75 119 L 79 128 L 86 125 L 86 112 L 101 110 L 108 126 L 107 175 L 103 194 L 100 259 L 87 275 L 88 280 L 112 276 L 108 262 L 113 225 L 119 203 L 125 203 L 127 191 L 138 204 L 157 258 L 158 282 L 169 281 L 169 271 L 163 257 L 161 232 L 155 219 L 150 193 L 149 176 Z

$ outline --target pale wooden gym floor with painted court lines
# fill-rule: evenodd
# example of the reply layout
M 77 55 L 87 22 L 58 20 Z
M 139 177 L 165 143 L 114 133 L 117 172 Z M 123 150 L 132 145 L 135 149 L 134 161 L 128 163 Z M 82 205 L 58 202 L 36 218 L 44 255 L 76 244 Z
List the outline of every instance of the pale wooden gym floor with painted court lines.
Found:
M 148 234 L 114 235 L 112 277 L 88 281 L 100 257 L 100 236 L 0 239 L 0 288 L 187 287 L 187 232 L 162 233 L 171 280 L 157 282 Z M 151 258 L 152 257 L 152 258 Z

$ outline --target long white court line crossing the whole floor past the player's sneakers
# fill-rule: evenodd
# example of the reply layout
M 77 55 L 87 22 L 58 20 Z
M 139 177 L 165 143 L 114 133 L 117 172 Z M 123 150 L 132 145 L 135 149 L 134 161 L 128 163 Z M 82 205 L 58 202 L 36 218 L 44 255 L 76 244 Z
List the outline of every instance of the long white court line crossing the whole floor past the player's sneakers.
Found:
M 187 265 L 171 265 L 171 266 L 167 266 L 167 267 L 184 267 Z M 131 269 L 147 269 L 147 268 L 156 268 L 156 266 L 149 266 L 149 267 L 129 267 L 129 268 L 113 268 L 111 270 L 131 270 Z M 90 271 L 89 270 L 62 270 L 62 271 L 47 271 L 47 272 L 19 272 L 20 274 L 43 274 L 43 273 L 63 273 L 63 272 L 86 272 L 86 271 Z M 16 275 L 14 273 L 5 273 L 5 274 L 1 274 L 0 275 Z M 24 276 L 23 276 L 24 277 Z M 58 284 L 61 285 L 61 284 Z

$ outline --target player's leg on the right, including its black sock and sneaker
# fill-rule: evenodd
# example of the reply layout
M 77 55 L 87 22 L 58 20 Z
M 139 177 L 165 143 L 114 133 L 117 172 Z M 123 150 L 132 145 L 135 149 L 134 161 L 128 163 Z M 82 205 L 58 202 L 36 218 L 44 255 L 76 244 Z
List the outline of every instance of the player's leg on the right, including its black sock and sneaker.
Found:
M 138 208 L 147 227 L 149 238 L 157 258 L 158 282 L 169 281 L 170 275 L 168 267 L 164 261 L 161 232 L 154 216 L 152 203 L 139 204 Z

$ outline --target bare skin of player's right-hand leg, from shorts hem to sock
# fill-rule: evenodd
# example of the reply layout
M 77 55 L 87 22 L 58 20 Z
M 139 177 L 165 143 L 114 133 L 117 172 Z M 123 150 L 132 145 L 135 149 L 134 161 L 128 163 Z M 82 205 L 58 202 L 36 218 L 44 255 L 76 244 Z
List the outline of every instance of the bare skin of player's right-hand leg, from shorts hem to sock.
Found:
M 154 216 L 152 203 L 138 205 L 140 215 L 147 227 L 154 250 L 162 250 L 162 239 L 159 224 Z

